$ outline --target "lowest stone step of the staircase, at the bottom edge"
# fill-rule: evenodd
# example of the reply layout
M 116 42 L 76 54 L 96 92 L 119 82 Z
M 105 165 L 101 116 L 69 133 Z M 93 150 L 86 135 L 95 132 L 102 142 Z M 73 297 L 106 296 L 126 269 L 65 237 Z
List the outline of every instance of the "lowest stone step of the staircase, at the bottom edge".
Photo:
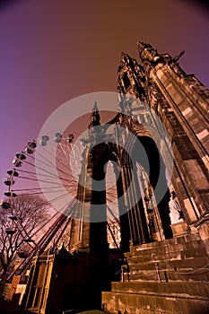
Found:
M 102 306 L 109 313 L 208 314 L 209 300 L 140 292 L 102 292 Z

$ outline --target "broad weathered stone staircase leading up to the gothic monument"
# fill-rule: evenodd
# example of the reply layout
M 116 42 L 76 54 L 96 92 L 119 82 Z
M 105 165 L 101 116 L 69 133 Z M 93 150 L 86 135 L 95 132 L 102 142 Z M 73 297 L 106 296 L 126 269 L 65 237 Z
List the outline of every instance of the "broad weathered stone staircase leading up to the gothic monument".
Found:
M 197 232 L 132 247 L 123 282 L 102 292 L 110 313 L 209 313 L 209 257 Z M 122 269 L 123 271 L 123 269 Z

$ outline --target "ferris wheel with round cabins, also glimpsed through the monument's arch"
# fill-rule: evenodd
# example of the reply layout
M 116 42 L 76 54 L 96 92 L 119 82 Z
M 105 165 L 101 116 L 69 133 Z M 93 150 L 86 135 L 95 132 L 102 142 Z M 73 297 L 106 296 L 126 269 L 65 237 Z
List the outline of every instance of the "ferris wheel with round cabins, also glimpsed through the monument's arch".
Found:
M 70 218 L 73 214 L 83 167 L 83 150 L 78 134 L 57 132 L 28 142 L 21 152 L 15 154 L 13 166 L 4 178 L 7 191 L 4 193 L 1 207 L 6 212 L 4 232 L 7 237 L 12 239 L 15 233 L 21 234 L 19 257 L 32 257 L 40 247 L 46 249 L 55 237 L 57 240 L 54 240 L 54 244 L 57 244 L 65 227 L 69 225 L 70 220 L 66 221 L 66 217 Z M 109 189 L 107 199 L 111 199 L 112 194 L 113 189 Z M 22 223 L 22 216 L 16 206 L 20 196 L 41 199 L 42 203 L 38 202 L 33 211 L 42 205 L 49 207 L 51 211 L 48 218 L 43 219 L 39 226 L 30 232 Z M 111 204 L 114 205 L 113 202 Z M 110 247 L 118 248 L 120 238 L 117 214 L 109 205 L 107 211 Z M 28 246 L 26 252 L 25 246 Z

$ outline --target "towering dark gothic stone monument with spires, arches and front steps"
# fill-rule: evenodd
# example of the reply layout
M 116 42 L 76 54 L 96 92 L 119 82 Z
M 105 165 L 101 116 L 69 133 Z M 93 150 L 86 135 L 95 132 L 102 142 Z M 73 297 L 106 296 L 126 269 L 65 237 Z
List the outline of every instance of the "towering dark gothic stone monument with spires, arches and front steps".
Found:
M 110 313 L 209 312 L 209 91 L 180 68 L 181 54 L 161 55 L 144 42 L 138 50 L 141 65 L 125 53 L 119 62 L 116 117 L 100 125 L 94 105 L 83 138 L 70 253 L 61 252 L 57 262 L 42 257 L 51 263 L 42 308 L 46 284 L 31 277 L 34 262 L 27 310 L 53 313 L 101 303 Z M 118 249 L 108 245 L 108 161 L 117 177 Z M 103 182 L 100 190 L 95 180 Z M 95 205 L 100 222 L 93 222 Z

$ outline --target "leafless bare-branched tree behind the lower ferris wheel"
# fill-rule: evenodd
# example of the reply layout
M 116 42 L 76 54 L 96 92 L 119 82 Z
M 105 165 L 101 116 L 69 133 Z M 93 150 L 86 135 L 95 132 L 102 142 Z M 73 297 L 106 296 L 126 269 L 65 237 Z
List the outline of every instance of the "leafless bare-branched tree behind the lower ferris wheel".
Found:
M 24 257 L 30 251 L 34 233 L 48 219 L 48 203 L 40 196 L 14 197 L 9 208 L 7 203 L 3 202 L 0 210 L 0 265 L 4 274 L 18 255 Z

